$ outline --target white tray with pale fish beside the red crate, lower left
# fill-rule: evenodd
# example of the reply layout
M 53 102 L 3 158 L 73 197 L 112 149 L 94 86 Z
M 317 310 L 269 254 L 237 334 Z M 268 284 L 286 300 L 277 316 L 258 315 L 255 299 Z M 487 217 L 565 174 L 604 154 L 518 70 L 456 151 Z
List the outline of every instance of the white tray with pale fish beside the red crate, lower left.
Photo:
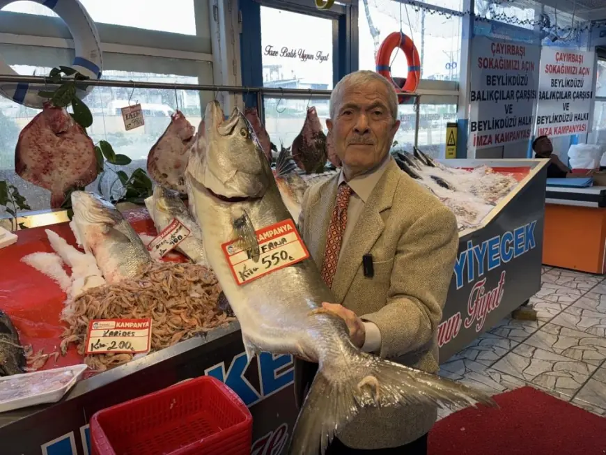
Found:
M 63 398 L 68 390 L 70 390 L 75 383 L 82 376 L 82 373 L 88 368 L 85 364 L 72 365 L 71 367 L 61 367 L 55 369 L 49 369 L 44 371 L 33 371 L 33 373 L 15 374 L 13 376 L 4 376 L 0 378 L 0 412 L 6 412 L 10 410 L 25 408 L 26 406 L 35 406 L 43 403 L 56 403 Z M 61 387 L 48 388 L 49 380 L 41 380 L 49 376 L 60 376 L 65 371 L 72 372 L 72 378 L 68 383 L 65 383 Z M 39 383 L 36 383 L 36 379 Z M 3 390 L 9 387 L 10 383 L 15 383 L 15 387 L 18 384 L 29 382 L 30 387 L 25 386 L 26 391 L 24 395 L 17 396 L 12 399 L 2 399 Z

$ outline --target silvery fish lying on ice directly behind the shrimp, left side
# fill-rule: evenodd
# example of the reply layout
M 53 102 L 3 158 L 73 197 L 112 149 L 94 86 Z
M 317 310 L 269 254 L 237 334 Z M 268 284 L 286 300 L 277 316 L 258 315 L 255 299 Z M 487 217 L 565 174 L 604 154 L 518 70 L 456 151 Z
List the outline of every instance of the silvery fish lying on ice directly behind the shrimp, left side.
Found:
M 74 217 L 70 226 L 84 251 L 93 254 L 108 283 L 133 278 L 151 256 L 118 209 L 97 194 L 72 192 Z

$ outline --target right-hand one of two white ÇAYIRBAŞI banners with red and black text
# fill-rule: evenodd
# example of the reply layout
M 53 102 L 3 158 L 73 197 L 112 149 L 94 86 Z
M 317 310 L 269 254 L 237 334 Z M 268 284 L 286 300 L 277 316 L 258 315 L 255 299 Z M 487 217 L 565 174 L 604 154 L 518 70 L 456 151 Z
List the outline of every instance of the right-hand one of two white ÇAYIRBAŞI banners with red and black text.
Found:
M 589 131 L 593 57 L 593 52 L 543 47 L 536 136 L 568 136 Z

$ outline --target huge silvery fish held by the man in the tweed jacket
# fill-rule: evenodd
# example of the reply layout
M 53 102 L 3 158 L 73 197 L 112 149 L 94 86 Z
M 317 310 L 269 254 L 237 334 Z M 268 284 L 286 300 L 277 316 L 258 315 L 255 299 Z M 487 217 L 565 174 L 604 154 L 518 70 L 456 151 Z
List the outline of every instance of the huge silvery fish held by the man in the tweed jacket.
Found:
M 205 153 L 192 155 L 186 169 L 189 198 L 204 214 L 198 222 L 206 256 L 240 321 L 248 359 L 265 351 L 319 364 L 290 454 L 324 453 L 336 430 L 366 406 L 494 403 L 460 383 L 362 353 L 343 320 L 320 307 L 335 299 L 311 258 L 238 285 L 222 244 L 237 239 L 232 251 L 241 248 L 256 264 L 252 268 L 264 268 L 272 253 L 259 247 L 256 231 L 291 217 L 238 109 L 224 120 L 219 103 L 211 102 L 205 141 Z

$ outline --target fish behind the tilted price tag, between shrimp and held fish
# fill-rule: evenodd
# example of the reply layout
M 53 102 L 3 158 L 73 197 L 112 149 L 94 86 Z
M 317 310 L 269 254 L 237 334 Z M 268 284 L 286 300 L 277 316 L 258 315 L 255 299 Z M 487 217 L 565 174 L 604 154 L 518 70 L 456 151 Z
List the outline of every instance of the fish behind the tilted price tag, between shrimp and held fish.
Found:
M 176 250 L 185 254 L 192 262 L 208 266 L 200 226 L 196 224 L 196 220 L 189 213 L 178 193 L 157 185 L 153 196 L 145 200 L 145 205 L 158 233 L 166 229 L 173 219 L 189 229 L 189 236 L 180 242 Z

